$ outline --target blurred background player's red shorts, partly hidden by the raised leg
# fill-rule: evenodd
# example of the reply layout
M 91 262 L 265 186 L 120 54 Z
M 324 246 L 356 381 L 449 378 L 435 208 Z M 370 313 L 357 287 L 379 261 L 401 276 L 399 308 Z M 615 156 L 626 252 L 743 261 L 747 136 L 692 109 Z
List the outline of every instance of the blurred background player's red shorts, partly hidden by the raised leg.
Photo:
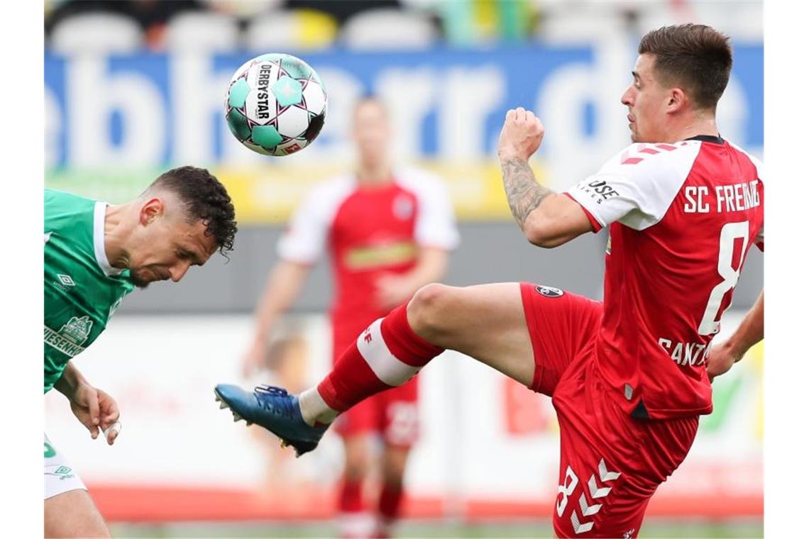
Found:
M 368 323 L 359 326 L 358 330 L 356 324 L 334 325 L 333 360 L 337 361 Z M 385 444 L 400 448 L 410 448 L 416 443 L 418 428 L 418 376 L 366 398 L 337 416 L 334 422 L 335 432 L 343 437 L 377 434 Z

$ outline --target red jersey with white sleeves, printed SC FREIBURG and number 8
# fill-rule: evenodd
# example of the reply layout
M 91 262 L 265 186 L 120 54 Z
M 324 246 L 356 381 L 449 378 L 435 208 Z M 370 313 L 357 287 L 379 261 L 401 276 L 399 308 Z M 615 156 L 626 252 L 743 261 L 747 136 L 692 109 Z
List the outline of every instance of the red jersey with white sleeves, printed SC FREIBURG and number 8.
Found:
M 718 137 L 633 144 L 566 194 L 609 226 L 596 364 L 627 411 L 709 414 L 709 344 L 753 243 L 761 163 Z

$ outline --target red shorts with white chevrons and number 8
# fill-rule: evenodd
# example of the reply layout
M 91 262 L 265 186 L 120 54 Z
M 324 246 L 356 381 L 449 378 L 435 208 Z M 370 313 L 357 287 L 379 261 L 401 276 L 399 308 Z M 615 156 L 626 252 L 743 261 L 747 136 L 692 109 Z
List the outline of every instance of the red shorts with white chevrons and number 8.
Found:
M 521 283 L 536 370 L 532 390 L 553 398 L 561 436 L 553 512 L 557 537 L 637 537 L 651 495 L 684 460 L 698 417 L 633 419 L 595 361 L 603 305 Z

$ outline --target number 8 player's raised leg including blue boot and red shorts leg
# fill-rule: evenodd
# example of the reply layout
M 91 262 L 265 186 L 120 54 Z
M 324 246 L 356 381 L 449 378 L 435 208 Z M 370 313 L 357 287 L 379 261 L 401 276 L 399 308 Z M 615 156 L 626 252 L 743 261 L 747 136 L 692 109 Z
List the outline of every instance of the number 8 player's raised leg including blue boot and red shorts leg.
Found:
M 301 455 L 341 412 L 404 384 L 447 348 L 551 395 L 595 335 L 601 312 L 598 302 L 535 284 L 429 284 L 373 322 L 300 396 L 267 387 L 249 394 L 234 385 L 218 385 L 216 394 L 236 419 L 260 424 Z

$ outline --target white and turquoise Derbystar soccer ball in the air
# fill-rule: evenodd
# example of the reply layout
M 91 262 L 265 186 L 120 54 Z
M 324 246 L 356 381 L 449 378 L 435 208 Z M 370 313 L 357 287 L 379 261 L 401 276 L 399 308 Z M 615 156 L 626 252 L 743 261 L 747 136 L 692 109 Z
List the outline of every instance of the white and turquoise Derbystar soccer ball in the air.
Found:
M 290 54 L 262 54 L 236 69 L 225 119 L 234 137 L 265 155 L 289 155 L 315 140 L 326 119 L 320 77 Z

